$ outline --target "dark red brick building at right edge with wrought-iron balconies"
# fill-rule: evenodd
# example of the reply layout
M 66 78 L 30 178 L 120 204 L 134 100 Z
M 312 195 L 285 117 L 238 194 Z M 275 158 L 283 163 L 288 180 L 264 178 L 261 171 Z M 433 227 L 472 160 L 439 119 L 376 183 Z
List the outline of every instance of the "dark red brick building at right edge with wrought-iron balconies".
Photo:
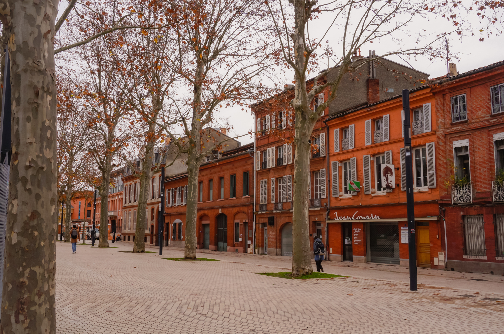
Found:
M 503 275 L 504 62 L 444 77 L 433 93 L 447 270 Z

